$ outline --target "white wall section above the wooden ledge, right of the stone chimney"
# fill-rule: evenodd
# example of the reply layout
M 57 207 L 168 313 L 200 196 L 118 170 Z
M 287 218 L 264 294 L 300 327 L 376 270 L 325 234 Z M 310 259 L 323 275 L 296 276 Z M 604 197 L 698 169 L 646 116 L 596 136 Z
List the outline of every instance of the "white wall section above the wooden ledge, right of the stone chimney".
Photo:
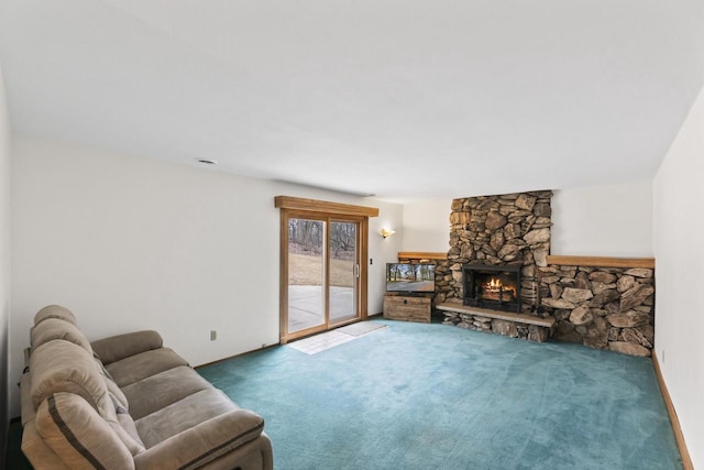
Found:
M 556 190 L 551 254 L 652 256 L 652 183 Z

